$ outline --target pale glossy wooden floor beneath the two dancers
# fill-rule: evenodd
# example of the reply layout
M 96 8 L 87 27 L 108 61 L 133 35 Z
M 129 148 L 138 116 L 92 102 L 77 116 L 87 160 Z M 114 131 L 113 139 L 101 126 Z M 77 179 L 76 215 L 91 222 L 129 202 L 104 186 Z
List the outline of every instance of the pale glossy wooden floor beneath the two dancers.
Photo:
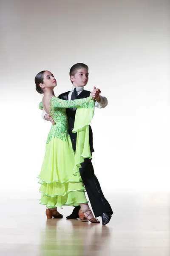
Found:
M 102 226 L 66 220 L 71 207 L 47 220 L 38 200 L 4 200 L 0 256 L 170 256 L 169 195 L 114 194 L 110 203 L 113 217 Z

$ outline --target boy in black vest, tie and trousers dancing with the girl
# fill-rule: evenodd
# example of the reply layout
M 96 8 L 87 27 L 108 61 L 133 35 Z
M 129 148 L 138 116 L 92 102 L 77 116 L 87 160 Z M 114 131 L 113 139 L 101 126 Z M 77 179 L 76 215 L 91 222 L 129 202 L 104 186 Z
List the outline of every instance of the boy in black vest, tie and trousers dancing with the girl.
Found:
M 100 96 L 100 90 L 94 87 L 92 92 L 84 90 L 84 86 L 88 83 L 88 66 L 83 63 L 77 63 L 73 65 L 70 69 L 70 80 L 73 84 L 71 91 L 62 93 L 59 95 L 59 99 L 72 100 L 72 99 L 82 99 L 91 96 L 96 99 L 95 106 L 97 108 L 105 108 L 108 105 L 108 100 L 105 97 Z M 76 150 L 77 133 L 72 133 L 74 128 L 76 108 L 67 109 L 69 134 L 71 136 L 71 142 L 74 151 Z M 54 124 L 54 120 L 47 114 L 44 110 L 42 112 L 42 118 L 51 121 Z M 89 143 L 91 153 L 94 152 L 93 148 L 93 133 L 91 126 L 89 125 Z M 94 174 L 93 165 L 91 159 L 85 158 L 84 163 L 81 164 L 82 168 L 79 169 L 82 181 L 84 183 L 85 189 L 88 194 L 88 198 L 91 202 L 91 207 L 93 209 L 94 215 L 96 217 L 102 217 L 102 224 L 106 225 L 111 219 L 113 211 L 110 204 L 105 199 L 102 189 L 100 187 L 99 181 Z M 78 212 L 80 207 L 74 208 L 68 219 L 79 218 Z

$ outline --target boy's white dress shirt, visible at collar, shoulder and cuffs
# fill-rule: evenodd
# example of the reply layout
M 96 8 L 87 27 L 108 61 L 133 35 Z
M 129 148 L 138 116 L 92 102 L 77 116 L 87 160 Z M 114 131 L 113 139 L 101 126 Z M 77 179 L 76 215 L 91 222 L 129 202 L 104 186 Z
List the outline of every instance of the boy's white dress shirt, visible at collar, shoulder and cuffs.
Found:
M 71 91 L 68 93 L 68 100 L 71 100 L 71 94 L 73 93 L 74 91 L 74 86 L 72 86 L 72 89 Z M 83 90 L 84 90 L 84 87 L 77 87 L 76 88 L 77 90 L 77 95 L 79 95 Z M 105 96 L 101 96 L 100 95 L 100 102 L 95 102 L 95 107 L 96 108 L 105 108 L 106 106 L 108 105 L 108 100 Z M 42 108 L 42 118 L 45 120 L 44 116 L 46 115 L 47 113 L 45 112 L 44 108 Z

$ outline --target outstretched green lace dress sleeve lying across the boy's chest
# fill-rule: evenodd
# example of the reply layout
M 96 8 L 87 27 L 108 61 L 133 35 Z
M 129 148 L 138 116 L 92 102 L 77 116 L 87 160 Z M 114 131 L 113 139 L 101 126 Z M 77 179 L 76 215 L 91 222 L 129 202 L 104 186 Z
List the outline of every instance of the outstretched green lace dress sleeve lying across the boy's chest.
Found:
M 74 100 L 63 100 L 57 97 L 52 97 L 50 101 L 54 108 L 94 108 L 94 100 L 91 96 L 84 99 Z

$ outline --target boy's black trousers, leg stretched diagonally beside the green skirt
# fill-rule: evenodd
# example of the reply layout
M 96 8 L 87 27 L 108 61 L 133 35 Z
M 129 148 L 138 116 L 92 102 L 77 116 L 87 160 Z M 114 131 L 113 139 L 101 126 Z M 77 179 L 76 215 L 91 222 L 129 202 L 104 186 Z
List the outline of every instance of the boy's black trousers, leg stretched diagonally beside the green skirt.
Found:
M 111 212 L 110 204 L 103 195 L 99 181 L 94 174 L 94 168 L 91 159 L 85 158 L 84 163 L 81 163 L 82 168 L 79 169 L 82 181 L 88 194 L 95 217 L 100 216 L 104 212 Z

